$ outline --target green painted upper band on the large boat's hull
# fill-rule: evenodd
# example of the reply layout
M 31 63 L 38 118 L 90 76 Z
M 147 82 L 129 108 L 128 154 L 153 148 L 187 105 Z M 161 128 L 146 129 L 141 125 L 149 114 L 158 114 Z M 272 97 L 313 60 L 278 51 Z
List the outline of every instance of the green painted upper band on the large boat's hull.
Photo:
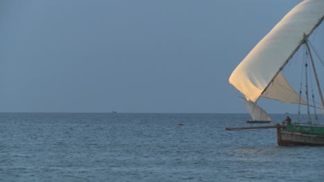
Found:
M 324 126 L 318 125 L 287 125 L 286 130 L 289 132 L 324 135 Z

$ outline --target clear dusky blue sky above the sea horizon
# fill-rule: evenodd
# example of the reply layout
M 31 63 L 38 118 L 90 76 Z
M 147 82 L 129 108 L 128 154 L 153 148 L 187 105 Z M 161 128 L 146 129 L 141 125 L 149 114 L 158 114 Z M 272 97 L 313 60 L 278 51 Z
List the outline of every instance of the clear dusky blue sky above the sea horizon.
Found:
M 0 112 L 247 113 L 228 77 L 299 2 L 0 1 Z

